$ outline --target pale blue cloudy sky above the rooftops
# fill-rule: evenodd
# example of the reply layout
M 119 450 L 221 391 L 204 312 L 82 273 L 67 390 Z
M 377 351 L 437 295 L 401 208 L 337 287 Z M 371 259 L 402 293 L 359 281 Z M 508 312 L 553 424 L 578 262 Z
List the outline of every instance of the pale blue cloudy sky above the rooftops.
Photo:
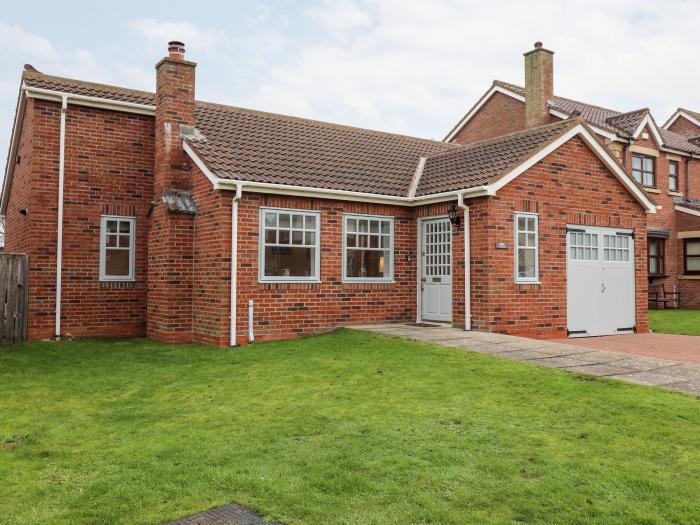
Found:
M 678 106 L 700 110 L 693 1 L 99 4 L 12 2 L 0 12 L 3 155 L 23 64 L 153 90 L 172 39 L 198 62 L 199 99 L 428 138 L 442 138 L 493 79 L 522 83 L 522 53 L 536 40 L 556 53 L 559 95 L 648 106 L 659 124 Z

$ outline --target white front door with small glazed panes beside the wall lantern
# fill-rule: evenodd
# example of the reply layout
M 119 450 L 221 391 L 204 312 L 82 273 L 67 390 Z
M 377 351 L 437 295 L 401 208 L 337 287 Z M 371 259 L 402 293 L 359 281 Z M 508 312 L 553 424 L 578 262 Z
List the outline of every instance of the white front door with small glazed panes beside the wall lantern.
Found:
M 452 321 L 452 226 L 449 219 L 421 221 L 421 316 Z

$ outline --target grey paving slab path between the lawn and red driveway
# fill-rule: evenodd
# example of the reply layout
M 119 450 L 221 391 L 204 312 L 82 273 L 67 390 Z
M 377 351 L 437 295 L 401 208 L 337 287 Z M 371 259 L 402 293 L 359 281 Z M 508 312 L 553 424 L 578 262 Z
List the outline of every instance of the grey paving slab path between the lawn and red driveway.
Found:
M 539 341 L 487 332 L 465 332 L 451 327 L 385 324 L 353 328 L 464 348 L 550 368 L 613 377 L 643 385 L 657 385 L 700 396 L 700 365 L 610 352 L 561 341 Z

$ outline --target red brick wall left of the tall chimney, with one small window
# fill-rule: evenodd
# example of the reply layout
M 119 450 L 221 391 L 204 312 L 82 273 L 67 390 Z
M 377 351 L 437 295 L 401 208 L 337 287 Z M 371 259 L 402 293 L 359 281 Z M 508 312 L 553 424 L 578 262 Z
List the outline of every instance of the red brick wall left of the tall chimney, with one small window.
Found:
M 60 104 L 30 99 L 10 193 L 8 241 L 30 260 L 29 337 L 55 329 Z M 31 147 L 30 147 L 31 140 Z M 31 161 L 30 161 L 31 160 Z M 27 197 L 28 181 L 32 181 Z M 66 115 L 62 332 L 143 335 L 147 219 L 153 184 L 153 119 L 68 106 Z M 17 214 L 28 208 L 28 216 Z M 136 279 L 99 280 L 100 217 L 136 217 Z M 24 222 L 23 222 L 24 221 Z M 29 236 L 26 226 L 29 224 Z

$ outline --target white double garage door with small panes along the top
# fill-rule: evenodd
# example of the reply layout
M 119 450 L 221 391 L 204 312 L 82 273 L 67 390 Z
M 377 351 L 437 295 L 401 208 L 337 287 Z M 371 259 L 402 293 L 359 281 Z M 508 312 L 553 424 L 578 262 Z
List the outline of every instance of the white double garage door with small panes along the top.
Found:
M 568 226 L 567 317 L 571 337 L 634 331 L 631 230 Z

